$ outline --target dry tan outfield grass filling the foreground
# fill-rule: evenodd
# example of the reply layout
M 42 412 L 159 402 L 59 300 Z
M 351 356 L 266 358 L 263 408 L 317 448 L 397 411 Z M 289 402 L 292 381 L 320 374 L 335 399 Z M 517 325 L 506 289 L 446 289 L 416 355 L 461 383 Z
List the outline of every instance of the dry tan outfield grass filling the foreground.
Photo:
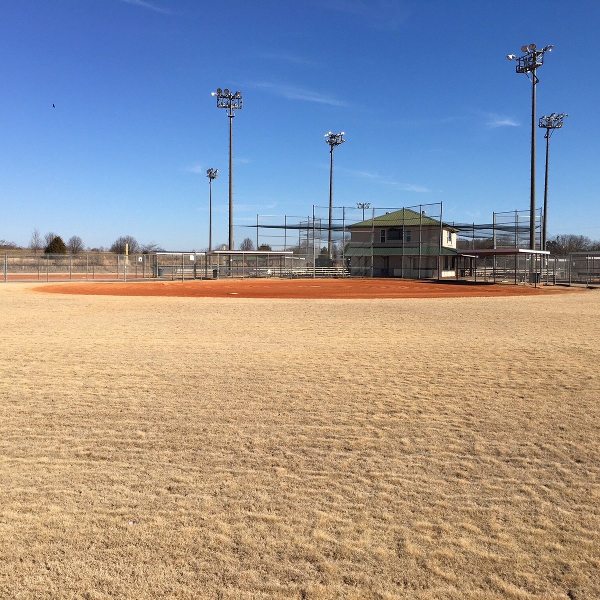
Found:
M 2 599 L 600 596 L 599 292 L 27 289 L 0 286 Z

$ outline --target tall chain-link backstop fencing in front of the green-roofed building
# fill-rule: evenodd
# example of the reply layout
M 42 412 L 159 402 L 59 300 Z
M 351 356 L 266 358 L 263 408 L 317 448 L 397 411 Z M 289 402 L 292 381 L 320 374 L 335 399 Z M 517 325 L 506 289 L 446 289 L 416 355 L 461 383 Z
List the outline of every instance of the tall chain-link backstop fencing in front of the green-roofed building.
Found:
M 305 217 L 257 215 L 256 248 L 291 250 L 292 277 L 454 277 L 455 227 L 442 203 L 401 208 L 313 206 Z

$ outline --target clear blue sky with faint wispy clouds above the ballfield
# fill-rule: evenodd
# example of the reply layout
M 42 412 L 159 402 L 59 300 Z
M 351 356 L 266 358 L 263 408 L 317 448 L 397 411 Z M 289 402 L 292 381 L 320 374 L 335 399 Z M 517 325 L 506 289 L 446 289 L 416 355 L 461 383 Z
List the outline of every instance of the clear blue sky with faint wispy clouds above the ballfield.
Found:
M 234 120 L 235 244 L 256 214 L 334 204 L 443 202 L 448 221 L 529 208 L 530 83 L 523 44 L 554 44 L 538 116 L 550 144 L 549 237 L 600 238 L 597 2 L 4 0 L 0 238 L 37 227 L 86 246 L 120 235 L 168 250 L 227 241 Z M 52 108 L 52 104 L 56 108 Z M 538 206 L 545 140 L 538 130 Z

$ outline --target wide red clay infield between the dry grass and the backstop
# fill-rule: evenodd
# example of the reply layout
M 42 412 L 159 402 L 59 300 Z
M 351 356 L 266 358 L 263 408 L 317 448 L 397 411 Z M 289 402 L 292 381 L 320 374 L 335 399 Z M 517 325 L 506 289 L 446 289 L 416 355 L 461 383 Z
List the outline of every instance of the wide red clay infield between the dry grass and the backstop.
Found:
M 246 279 L 59 283 L 38 292 L 101 296 L 179 296 L 185 298 L 468 298 L 547 295 L 573 291 L 491 283 L 437 283 L 406 279 Z

